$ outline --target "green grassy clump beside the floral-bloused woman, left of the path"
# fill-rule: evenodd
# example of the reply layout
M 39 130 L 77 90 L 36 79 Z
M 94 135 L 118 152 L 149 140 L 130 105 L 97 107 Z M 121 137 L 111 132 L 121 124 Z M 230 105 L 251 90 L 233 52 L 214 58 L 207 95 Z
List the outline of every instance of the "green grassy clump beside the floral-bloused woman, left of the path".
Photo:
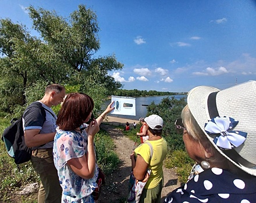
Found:
M 115 145 L 113 140 L 108 136 L 108 133 L 101 130 L 95 136 L 95 146 L 99 168 L 106 175 L 110 175 L 120 164 L 118 155 L 114 151 Z

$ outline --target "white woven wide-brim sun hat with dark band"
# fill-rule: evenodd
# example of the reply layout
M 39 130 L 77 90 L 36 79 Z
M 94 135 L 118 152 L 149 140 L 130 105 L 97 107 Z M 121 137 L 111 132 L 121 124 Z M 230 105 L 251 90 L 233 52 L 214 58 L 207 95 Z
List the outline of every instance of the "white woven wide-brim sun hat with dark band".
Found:
M 187 104 L 195 121 L 219 153 L 243 171 L 256 176 L 256 81 L 224 90 L 198 86 L 190 90 Z M 239 121 L 233 130 L 247 133 L 243 144 L 232 150 L 222 150 L 216 146 L 216 135 L 208 135 L 204 128 L 211 118 L 218 116 Z

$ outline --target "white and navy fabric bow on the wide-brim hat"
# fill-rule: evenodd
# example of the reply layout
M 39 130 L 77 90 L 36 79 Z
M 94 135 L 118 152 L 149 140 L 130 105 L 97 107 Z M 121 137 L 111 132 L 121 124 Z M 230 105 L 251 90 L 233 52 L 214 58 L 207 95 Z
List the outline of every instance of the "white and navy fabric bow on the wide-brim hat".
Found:
M 247 137 L 246 132 L 230 131 L 238 122 L 230 117 L 216 117 L 205 124 L 204 129 L 208 134 L 218 134 L 214 138 L 216 146 L 231 150 L 243 144 Z

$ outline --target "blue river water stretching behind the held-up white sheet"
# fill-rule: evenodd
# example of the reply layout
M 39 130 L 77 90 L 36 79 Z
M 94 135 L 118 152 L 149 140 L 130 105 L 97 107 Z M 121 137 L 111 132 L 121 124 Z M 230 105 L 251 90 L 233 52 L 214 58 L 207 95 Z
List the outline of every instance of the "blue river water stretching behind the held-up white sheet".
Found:
M 170 96 L 147 96 L 147 97 L 136 97 L 136 115 L 117 115 L 117 114 L 108 114 L 109 116 L 112 117 L 118 117 L 118 118 L 126 118 L 126 119 L 133 119 L 133 120 L 138 120 L 140 117 L 145 117 L 147 115 L 147 106 L 145 105 L 150 105 L 152 102 L 155 104 L 159 104 L 163 98 L 166 97 L 175 97 L 175 99 L 180 99 L 183 97 L 187 97 L 187 95 L 170 95 Z M 108 104 L 111 101 L 108 100 L 105 102 L 103 109 L 108 106 Z

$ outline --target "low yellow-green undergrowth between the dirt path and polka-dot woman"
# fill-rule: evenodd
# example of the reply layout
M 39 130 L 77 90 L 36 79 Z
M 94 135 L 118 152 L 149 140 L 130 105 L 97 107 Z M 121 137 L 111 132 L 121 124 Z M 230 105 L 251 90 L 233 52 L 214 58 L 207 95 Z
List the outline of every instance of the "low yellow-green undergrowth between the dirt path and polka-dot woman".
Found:
M 183 150 L 175 150 L 170 152 L 165 160 L 165 167 L 175 168 L 181 183 L 187 182 L 187 177 L 189 177 L 193 165 L 194 161 L 191 160 L 186 151 Z

